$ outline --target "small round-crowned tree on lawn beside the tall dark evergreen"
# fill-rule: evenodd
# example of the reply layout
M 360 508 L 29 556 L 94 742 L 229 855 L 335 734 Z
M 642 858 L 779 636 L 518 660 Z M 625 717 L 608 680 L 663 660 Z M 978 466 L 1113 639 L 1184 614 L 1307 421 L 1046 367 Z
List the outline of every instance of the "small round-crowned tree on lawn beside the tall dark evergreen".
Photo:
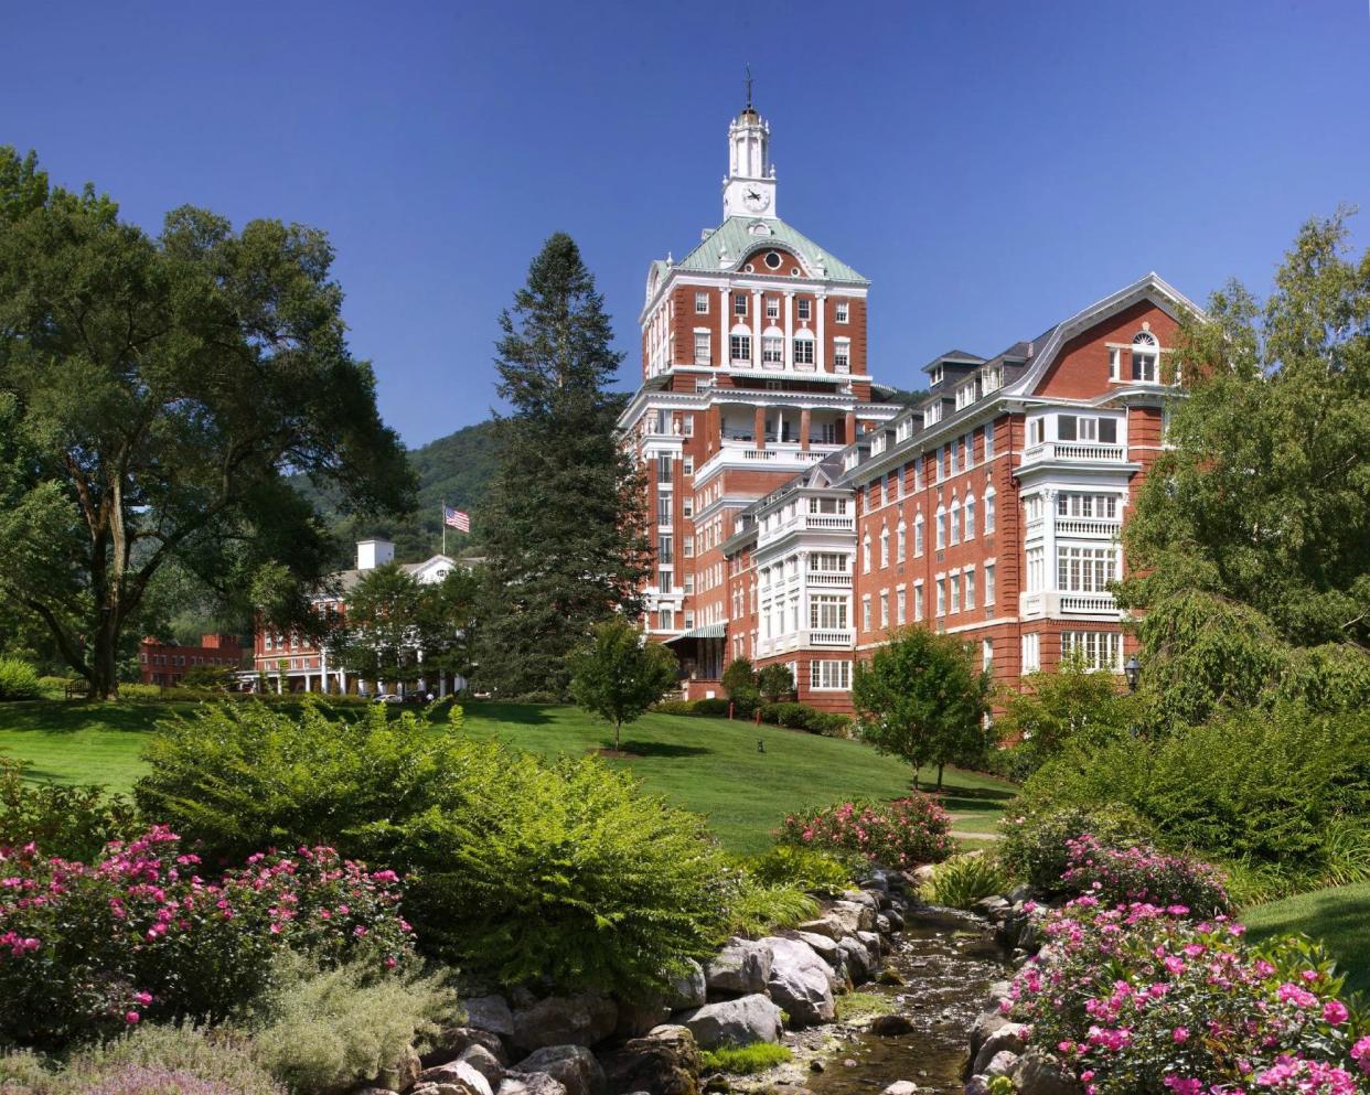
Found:
M 570 657 L 571 695 L 592 714 L 614 724 L 614 751 L 623 723 L 633 723 L 675 687 L 675 654 L 647 642 L 616 616 L 596 624 L 590 638 Z

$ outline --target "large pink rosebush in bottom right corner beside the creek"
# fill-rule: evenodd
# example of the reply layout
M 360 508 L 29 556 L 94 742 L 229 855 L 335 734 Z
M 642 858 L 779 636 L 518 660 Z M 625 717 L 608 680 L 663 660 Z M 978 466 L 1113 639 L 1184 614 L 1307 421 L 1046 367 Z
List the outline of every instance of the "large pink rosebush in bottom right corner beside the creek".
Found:
M 1254 947 L 1222 916 L 1093 897 L 1051 913 L 1044 932 L 1004 1007 L 1088 1095 L 1370 1090 L 1370 1038 L 1307 940 Z

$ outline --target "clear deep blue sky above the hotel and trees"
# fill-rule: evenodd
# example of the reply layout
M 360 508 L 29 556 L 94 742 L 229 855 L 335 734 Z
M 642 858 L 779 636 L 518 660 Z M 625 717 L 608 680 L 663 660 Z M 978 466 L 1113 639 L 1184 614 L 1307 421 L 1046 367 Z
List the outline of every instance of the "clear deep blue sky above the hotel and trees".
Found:
M 1366 0 L 26 4 L 0 142 L 156 229 L 329 231 L 352 346 L 422 443 L 495 401 L 496 316 L 552 231 L 638 375 L 647 264 L 721 218 L 743 64 L 778 207 L 873 279 L 871 363 L 1030 338 L 1148 270 L 1263 292 L 1370 205 Z M 1370 240 L 1370 208 L 1354 222 Z

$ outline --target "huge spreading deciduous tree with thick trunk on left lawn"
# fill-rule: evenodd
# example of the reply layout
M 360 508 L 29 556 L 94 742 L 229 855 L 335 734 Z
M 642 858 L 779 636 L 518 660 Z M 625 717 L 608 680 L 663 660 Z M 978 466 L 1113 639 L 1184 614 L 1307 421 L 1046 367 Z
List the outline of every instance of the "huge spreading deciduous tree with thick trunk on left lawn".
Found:
M 23 450 L 0 457 L 0 595 L 96 695 L 116 691 L 121 638 L 173 561 L 223 600 L 269 560 L 296 584 L 321 576 L 326 545 L 286 474 L 349 509 L 408 508 L 332 261 L 314 229 L 234 231 L 190 207 L 152 238 L 0 149 L 0 413 Z

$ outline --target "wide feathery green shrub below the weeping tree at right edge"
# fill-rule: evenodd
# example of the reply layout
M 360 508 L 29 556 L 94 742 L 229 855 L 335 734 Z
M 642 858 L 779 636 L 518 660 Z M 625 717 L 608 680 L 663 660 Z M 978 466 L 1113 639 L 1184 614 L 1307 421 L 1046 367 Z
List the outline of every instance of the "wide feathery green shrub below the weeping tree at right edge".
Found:
M 1029 813 L 1117 802 L 1149 823 L 1162 847 L 1249 868 L 1302 864 L 1307 886 L 1318 886 L 1348 858 L 1344 831 L 1340 849 L 1329 843 L 1338 819 L 1370 817 L 1370 710 L 1281 706 L 1160 740 L 1070 750 L 1028 780 L 1021 801 Z M 1360 855 L 1370 858 L 1370 842 Z

